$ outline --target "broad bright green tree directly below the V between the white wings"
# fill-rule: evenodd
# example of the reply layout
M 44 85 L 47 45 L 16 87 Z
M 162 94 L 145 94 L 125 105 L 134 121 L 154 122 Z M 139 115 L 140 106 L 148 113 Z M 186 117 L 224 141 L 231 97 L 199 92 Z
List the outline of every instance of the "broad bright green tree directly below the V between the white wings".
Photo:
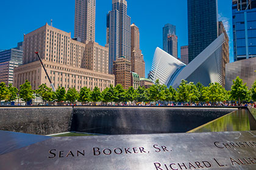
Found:
M 177 88 L 177 101 L 198 101 L 200 97 L 199 91 L 193 82 L 188 83 L 186 80 L 182 80 L 180 86 Z

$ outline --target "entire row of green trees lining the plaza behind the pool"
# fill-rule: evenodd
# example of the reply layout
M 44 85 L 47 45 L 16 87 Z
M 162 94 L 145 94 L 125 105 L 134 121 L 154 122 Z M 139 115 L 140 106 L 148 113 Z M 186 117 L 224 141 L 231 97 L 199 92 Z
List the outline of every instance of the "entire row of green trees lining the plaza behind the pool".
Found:
M 19 95 L 19 96 L 18 96 Z M 29 81 L 26 81 L 20 86 L 20 90 L 9 84 L 9 87 L 5 86 L 5 83 L 0 84 L 0 100 L 15 101 L 17 97 L 20 97 L 23 101 L 30 101 L 40 97 L 44 102 L 46 101 L 68 101 L 74 103 L 76 101 L 82 103 L 99 102 L 104 103 L 115 102 L 149 102 L 149 101 L 180 101 L 180 102 L 212 102 L 213 104 L 219 101 L 235 100 L 241 103 L 241 101 L 256 101 L 256 80 L 251 89 L 248 89 L 246 83 L 243 83 L 241 78 L 237 77 L 233 80 L 233 86 L 230 91 L 225 90 L 219 83 L 210 83 L 207 87 L 204 87 L 201 83 L 194 84 L 188 83 L 182 80 L 180 86 L 175 90 L 172 87 L 161 85 L 157 80 L 153 86 L 149 89 L 145 87 L 138 87 L 135 90 L 133 87 L 129 87 L 128 90 L 124 90 L 121 84 L 113 87 L 107 87 L 102 92 L 98 87 L 94 87 L 90 90 L 88 87 L 83 87 L 80 92 L 77 92 L 75 88 L 69 88 L 68 91 L 64 87 L 59 87 L 56 92 L 53 92 L 50 87 L 45 84 L 41 84 L 37 90 L 32 90 Z

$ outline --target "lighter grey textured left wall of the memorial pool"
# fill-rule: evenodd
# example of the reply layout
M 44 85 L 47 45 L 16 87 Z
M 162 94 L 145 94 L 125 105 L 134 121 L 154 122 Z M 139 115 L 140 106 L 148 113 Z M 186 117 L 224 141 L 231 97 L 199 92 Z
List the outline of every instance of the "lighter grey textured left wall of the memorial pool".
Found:
M 0 107 L 0 130 L 49 135 L 70 131 L 72 107 Z

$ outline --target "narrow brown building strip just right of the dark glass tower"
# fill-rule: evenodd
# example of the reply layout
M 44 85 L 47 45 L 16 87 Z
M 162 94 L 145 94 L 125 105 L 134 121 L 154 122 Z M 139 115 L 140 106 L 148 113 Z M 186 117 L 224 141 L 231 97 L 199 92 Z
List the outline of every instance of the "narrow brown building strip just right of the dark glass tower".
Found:
M 225 42 L 222 44 L 222 86 L 225 87 L 226 64 L 229 63 L 229 36 L 222 21 L 219 21 L 219 35 L 224 33 Z

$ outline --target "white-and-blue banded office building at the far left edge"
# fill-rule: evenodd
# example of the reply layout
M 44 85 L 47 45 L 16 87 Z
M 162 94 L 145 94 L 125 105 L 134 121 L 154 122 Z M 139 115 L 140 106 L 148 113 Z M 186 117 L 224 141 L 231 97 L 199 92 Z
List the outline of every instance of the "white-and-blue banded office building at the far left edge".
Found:
M 0 52 L 0 83 L 13 84 L 13 70 L 22 64 L 22 50 L 15 48 Z

